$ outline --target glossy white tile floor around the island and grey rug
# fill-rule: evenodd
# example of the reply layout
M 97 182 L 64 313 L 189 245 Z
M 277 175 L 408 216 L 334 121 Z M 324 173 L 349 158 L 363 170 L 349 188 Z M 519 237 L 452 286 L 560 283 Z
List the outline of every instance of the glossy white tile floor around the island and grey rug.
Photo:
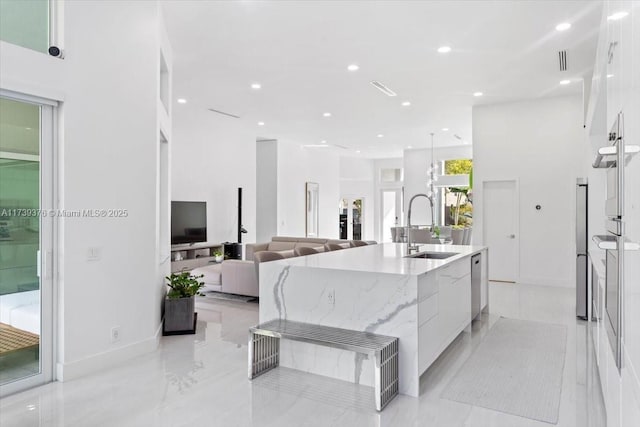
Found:
M 200 301 L 198 333 L 165 337 L 160 348 L 120 367 L 52 383 L 0 401 L 9 426 L 549 426 L 441 399 L 452 375 L 499 316 L 568 325 L 558 426 L 604 427 L 586 322 L 574 292 L 491 284 L 491 314 L 462 333 L 421 379 L 419 398 L 398 396 L 382 412 L 370 388 L 279 368 L 247 380 L 252 303 Z

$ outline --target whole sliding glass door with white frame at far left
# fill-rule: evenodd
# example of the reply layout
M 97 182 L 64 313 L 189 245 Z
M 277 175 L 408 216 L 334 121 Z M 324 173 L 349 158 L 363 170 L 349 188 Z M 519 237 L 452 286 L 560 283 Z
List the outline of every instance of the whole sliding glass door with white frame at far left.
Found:
M 51 380 L 53 106 L 0 97 L 0 395 Z

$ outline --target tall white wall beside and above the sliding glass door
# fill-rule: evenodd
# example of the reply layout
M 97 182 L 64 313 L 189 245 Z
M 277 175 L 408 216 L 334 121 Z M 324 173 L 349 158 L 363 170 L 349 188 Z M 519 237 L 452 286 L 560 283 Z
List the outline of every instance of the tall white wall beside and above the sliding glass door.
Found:
M 59 379 L 157 345 L 168 271 L 156 240 L 161 26 L 154 1 L 66 2 L 64 60 L 0 45 L 2 88 L 64 101 L 58 207 L 129 212 L 58 223 Z M 87 260 L 89 248 L 98 261 Z M 121 338 L 111 343 L 114 326 Z

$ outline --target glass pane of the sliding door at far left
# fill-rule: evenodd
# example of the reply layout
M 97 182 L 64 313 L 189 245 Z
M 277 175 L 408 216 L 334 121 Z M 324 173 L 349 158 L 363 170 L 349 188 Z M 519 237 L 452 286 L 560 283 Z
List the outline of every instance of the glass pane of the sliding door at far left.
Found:
M 0 98 L 0 385 L 41 369 L 40 109 Z

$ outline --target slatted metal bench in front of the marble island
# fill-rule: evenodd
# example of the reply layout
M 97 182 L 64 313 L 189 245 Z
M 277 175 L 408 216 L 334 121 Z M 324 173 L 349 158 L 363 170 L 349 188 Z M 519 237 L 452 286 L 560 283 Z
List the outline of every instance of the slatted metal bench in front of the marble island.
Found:
M 292 320 L 270 320 L 249 329 L 249 379 L 280 363 L 280 338 L 373 356 L 376 409 L 398 394 L 398 338 Z

